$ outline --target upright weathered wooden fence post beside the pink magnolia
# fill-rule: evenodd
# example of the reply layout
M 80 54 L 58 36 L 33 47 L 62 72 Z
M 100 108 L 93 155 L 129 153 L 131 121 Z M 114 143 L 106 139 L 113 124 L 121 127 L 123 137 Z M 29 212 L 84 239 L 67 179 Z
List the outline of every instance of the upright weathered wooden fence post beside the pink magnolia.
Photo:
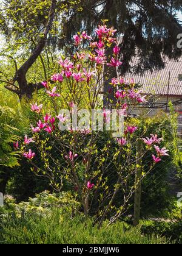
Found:
M 136 144 L 135 202 L 134 202 L 134 218 L 133 218 L 134 226 L 137 226 L 140 222 L 142 154 L 143 154 L 143 140 L 138 140 Z

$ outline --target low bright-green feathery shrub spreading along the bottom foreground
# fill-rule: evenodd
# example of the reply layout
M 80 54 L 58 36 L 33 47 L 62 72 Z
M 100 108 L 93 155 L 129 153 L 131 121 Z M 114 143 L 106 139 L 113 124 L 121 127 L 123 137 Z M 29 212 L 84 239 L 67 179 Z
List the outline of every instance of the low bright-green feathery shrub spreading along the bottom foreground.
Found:
M 160 236 L 142 235 L 140 228 L 116 222 L 98 229 L 92 219 L 81 215 L 60 213 L 58 208 L 47 215 L 28 212 L 21 216 L 9 215 L 0 229 L 1 244 L 166 244 Z

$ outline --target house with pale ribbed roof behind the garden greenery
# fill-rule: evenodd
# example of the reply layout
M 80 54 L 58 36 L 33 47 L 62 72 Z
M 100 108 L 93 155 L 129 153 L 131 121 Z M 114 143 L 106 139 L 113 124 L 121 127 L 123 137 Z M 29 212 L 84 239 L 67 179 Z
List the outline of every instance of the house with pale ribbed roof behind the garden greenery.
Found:
M 134 58 L 132 65 L 136 62 L 137 58 Z M 142 85 L 143 93 L 152 96 L 149 100 L 150 115 L 155 115 L 158 110 L 169 113 L 171 101 L 179 113 L 178 133 L 182 135 L 182 57 L 178 61 L 165 59 L 164 62 L 165 67 L 160 71 L 146 71 L 144 75 L 127 73 L 125 79 L 133 77 L 135 83 Z

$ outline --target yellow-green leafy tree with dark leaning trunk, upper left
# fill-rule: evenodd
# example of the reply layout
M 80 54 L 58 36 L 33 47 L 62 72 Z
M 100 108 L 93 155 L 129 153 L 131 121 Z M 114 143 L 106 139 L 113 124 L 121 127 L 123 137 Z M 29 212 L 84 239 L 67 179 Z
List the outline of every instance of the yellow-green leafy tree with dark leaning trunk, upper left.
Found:
M 53 52 L 56 51 L 56 38 L 62 26 L 62 18 L 69 15 L 69 10 L 77 8 L 78 1 L 8 1 L 1 4 L 0 32 L 4 35 L 5 46 L 1 55 L 9 57 L 15 63 L 15 73 L 5 77 L 6 88 L 18 94 L 19 98 L 32 98 L 41 84 L 27 82 L 28 71 L 38 57 L 41 60 L 44 79 L 53 62 Z M 42 50 L 45 49 L 45 56 Z M 47 63 L 45 63 L 47 62 Z M 46 66 L 47 64 L 47 66 Z M 53 63 L 55 64 L 55 63 Z M 1 71 L 2 74 L 3 71 Z

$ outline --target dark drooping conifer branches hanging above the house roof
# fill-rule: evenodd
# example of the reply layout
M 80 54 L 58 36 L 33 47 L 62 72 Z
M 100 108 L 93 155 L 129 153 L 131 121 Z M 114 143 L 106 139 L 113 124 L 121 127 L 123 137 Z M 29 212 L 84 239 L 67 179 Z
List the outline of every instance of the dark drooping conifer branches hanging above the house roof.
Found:
M 182 10 L 181 0 L 83 0 L 81 4 L 82 12 L 73 12 L 64 20 L 64 43 L 70 44 L 76 31 L 85 29 L 92 33 L 101 19 L 108 19 L 110 26 L 116 27 L 118 36 L 123 38 L 121 73 L 128 71 L 135 54 L 139 57 L 134 69 L 136 73 L 163 68 L 161 54 L 170 59 L 181 55 L 181 50 L 177 49 L 177 35 L 182 28 L 176 18 L 177 11 Z

